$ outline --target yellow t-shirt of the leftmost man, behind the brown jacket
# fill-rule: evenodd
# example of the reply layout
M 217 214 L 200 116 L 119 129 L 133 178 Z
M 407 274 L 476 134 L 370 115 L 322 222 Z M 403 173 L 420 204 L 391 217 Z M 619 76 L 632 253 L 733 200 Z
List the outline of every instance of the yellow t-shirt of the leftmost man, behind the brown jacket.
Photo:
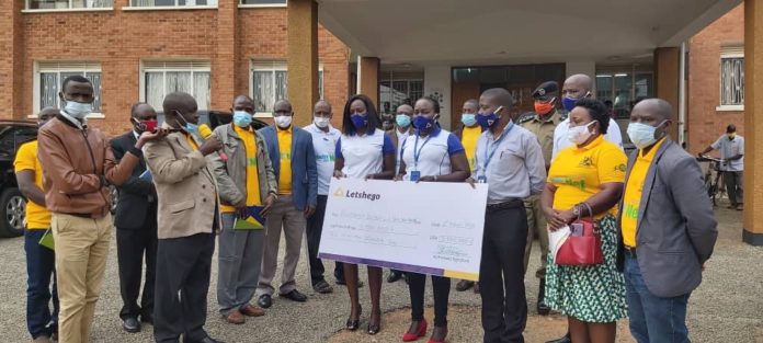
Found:
M 37 159 L 37 141 L 33 140 L 22 145 L 16 152 L 13 167 L 16 173 L 22 170 L 34 172 L 34 185 L 43 190 L 43 167 Z M 30 230 L 45 230 L 50 227 L 50 211 L 30 201 L 26 202 L 26 228 Z

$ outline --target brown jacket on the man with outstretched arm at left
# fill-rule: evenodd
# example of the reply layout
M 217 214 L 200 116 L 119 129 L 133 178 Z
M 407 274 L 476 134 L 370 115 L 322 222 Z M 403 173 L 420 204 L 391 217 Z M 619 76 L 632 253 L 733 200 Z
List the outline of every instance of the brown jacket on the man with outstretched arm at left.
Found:
M 45 171 L 45 206 L 54 213 L 106 216 L 111 198 L 104 181 L 122 185 L 139 162 L 125 153 L 117 164 L 101 130 L 79 129 L 60 114 L 39 129 L 37 141 L 37 157 Z

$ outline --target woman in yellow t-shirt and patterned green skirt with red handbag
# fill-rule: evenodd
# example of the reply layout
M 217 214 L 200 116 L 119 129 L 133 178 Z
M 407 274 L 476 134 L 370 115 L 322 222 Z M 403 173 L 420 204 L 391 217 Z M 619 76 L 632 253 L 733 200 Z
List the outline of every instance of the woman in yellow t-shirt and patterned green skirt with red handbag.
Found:
M 590 99 L 576 103 L 569 129 L 576 145 L 551 162 L 540 198 L 550 231 L 578 227 L 570 225 L 592 217 L 602 242 L 599 264 L 560 265 L 554 253 L 548 255 L 546 302 L 568 316 L 572 342 L 614 343 L 615 322 L 627 316 L 624 278 L 616 268 L 615 221 L 626 157 L 604 140 L 608 123 L 603 103 Z M 563 242 L 570 243 L 569 238 Z

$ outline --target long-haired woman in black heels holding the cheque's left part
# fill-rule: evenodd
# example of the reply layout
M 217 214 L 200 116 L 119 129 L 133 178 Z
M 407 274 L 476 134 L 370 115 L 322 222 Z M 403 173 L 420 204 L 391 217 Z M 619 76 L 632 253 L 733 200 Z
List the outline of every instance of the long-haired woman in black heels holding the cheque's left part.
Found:
M 363 94 L 353 95 L 344 105 L 342 137 L 337 141 L 334 178 L 386 179 L 395 176 L 395 147 L 383 130 L 378 129 L 379 117 L 376 106 Z M 350 294 L 350 318 L 348 330 L 357 330 L 361 304 L 357 299 L 357 264 L 344 263 L 344 279 Z M 368 333 L 376 334 L 382 328 L 382 268 L 368 266 L 371 290 L 371 319 Z

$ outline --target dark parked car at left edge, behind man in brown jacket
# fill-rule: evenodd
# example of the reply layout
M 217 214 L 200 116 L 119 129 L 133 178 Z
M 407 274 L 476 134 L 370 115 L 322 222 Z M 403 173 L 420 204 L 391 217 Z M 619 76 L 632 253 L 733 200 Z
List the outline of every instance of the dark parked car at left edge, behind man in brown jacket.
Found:
M 0 237 L 18 237 L 26 225 L 26 198 L 19 191 L 13 160 L 19 147 L 37 137 L 37 124 L 0 121 Z

